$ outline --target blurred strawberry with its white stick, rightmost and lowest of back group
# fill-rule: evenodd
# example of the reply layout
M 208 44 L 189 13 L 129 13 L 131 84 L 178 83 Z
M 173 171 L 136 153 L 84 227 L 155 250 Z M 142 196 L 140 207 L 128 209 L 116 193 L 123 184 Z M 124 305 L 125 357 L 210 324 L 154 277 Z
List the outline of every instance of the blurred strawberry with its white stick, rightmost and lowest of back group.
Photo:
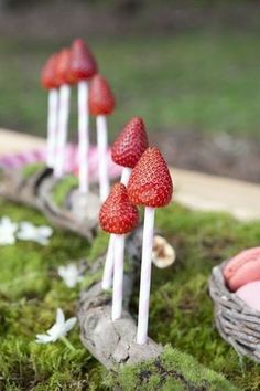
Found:
M 108 82 L 100 74 L 96 74 L 90 81 L 88 103 L 89 113 L 96 116 L 99 196 L 100 200 L 105 201 L 109 193 L 106 116 L 112 113 L 115 98 Z

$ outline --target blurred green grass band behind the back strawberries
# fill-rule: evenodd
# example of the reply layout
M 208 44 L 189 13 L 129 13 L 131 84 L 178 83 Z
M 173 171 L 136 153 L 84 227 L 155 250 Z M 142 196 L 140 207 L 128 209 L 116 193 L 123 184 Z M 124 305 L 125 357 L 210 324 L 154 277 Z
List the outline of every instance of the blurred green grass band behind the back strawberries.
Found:
M 117 96 L 110 137 L 133 115 L 150 131 L 257 136 L 260 117 L 259 33 L 192 31 L 172 35 L 90 39 L 100 71 Z M 39 73 L 47 55 L 69 42 L 1 36 L 1 125 L 45 134 L 46 93 Z M 72 128 L 76 129 L 76 92 Z M 95 137 L 95 135 L 93 135 Z

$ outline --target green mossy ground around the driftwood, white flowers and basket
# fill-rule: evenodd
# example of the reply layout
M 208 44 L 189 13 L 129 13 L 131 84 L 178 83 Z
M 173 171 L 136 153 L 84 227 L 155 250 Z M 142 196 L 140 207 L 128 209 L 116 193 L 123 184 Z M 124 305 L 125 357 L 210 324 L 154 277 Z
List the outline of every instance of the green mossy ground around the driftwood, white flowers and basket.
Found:
M 3 201 L 0 215 L 46 223 L 37 212 Z M 191 353 L 242 390 L 259 390 L 260 366 L 239 359 L 214 328 L 207 278 L 214 265 L 243 247 L 259 245 L 260 222 L 240 223 L 228 215 L 191 212 L 175 204 L 158 211 L 156 225 L 174 245 L 177 260 L 170 268 L 153 268 L 151 337 Z M 45 346 L 34 341 L 35 334 L 53 324 L 58 306 L 66 317 L 75 314 L 80 287 L 67 288 L 57 276 L 57 266 L 85 255 L 95 257 L 106 239 L 99 236 L 90 247 L 86 240 L 55 230 L 45 247 L 32 242 L 0 247 L 0 390 L 102 390 L 115 388 L 115 382 L 123 389 L 141 389 L 132 370 L 107 379 L 105 369 L 82 347 L 78 326 L 68 335 L 75 351 L 62 341 Z M 133 314 L 137 305 L 138 287 L 131 303 Z M 191 357 L 180 356 L 177 350 L 166 350 L 162 361 L 165 366 L 174 362 L 171 370 L 181 366 L 198 383 Z M 204 376 L 215 377 L 213 372 Z M 165 390 L 183 389 L 177 380 L 158 381 L 158 377 L 150 379 L 143 389 L 158 384 Z M 226 383 L 220 383 L 212 389 L 224 390 Z

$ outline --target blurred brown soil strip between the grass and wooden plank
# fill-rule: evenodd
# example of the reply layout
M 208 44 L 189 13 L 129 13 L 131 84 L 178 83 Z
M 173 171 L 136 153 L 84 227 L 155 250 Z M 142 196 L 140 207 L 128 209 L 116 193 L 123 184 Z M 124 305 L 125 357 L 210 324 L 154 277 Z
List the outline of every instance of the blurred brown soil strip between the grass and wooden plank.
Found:
M 260 182 L 260 138 L 171 130 L 152 134 L 151 142 L 178 168 Z

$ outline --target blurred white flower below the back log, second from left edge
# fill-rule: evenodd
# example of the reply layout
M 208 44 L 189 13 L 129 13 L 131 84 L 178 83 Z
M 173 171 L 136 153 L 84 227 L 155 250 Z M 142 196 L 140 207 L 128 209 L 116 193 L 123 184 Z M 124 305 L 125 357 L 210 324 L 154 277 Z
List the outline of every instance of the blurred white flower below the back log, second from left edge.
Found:
M 21 241 L 33 241 L 42 245 L 48 244 L 48 239 L 52 236 L 53 230 L 51 226 L 42 225 L 36 226 L 29 221 L 20 223 L 20 230 L 17 237 Z

